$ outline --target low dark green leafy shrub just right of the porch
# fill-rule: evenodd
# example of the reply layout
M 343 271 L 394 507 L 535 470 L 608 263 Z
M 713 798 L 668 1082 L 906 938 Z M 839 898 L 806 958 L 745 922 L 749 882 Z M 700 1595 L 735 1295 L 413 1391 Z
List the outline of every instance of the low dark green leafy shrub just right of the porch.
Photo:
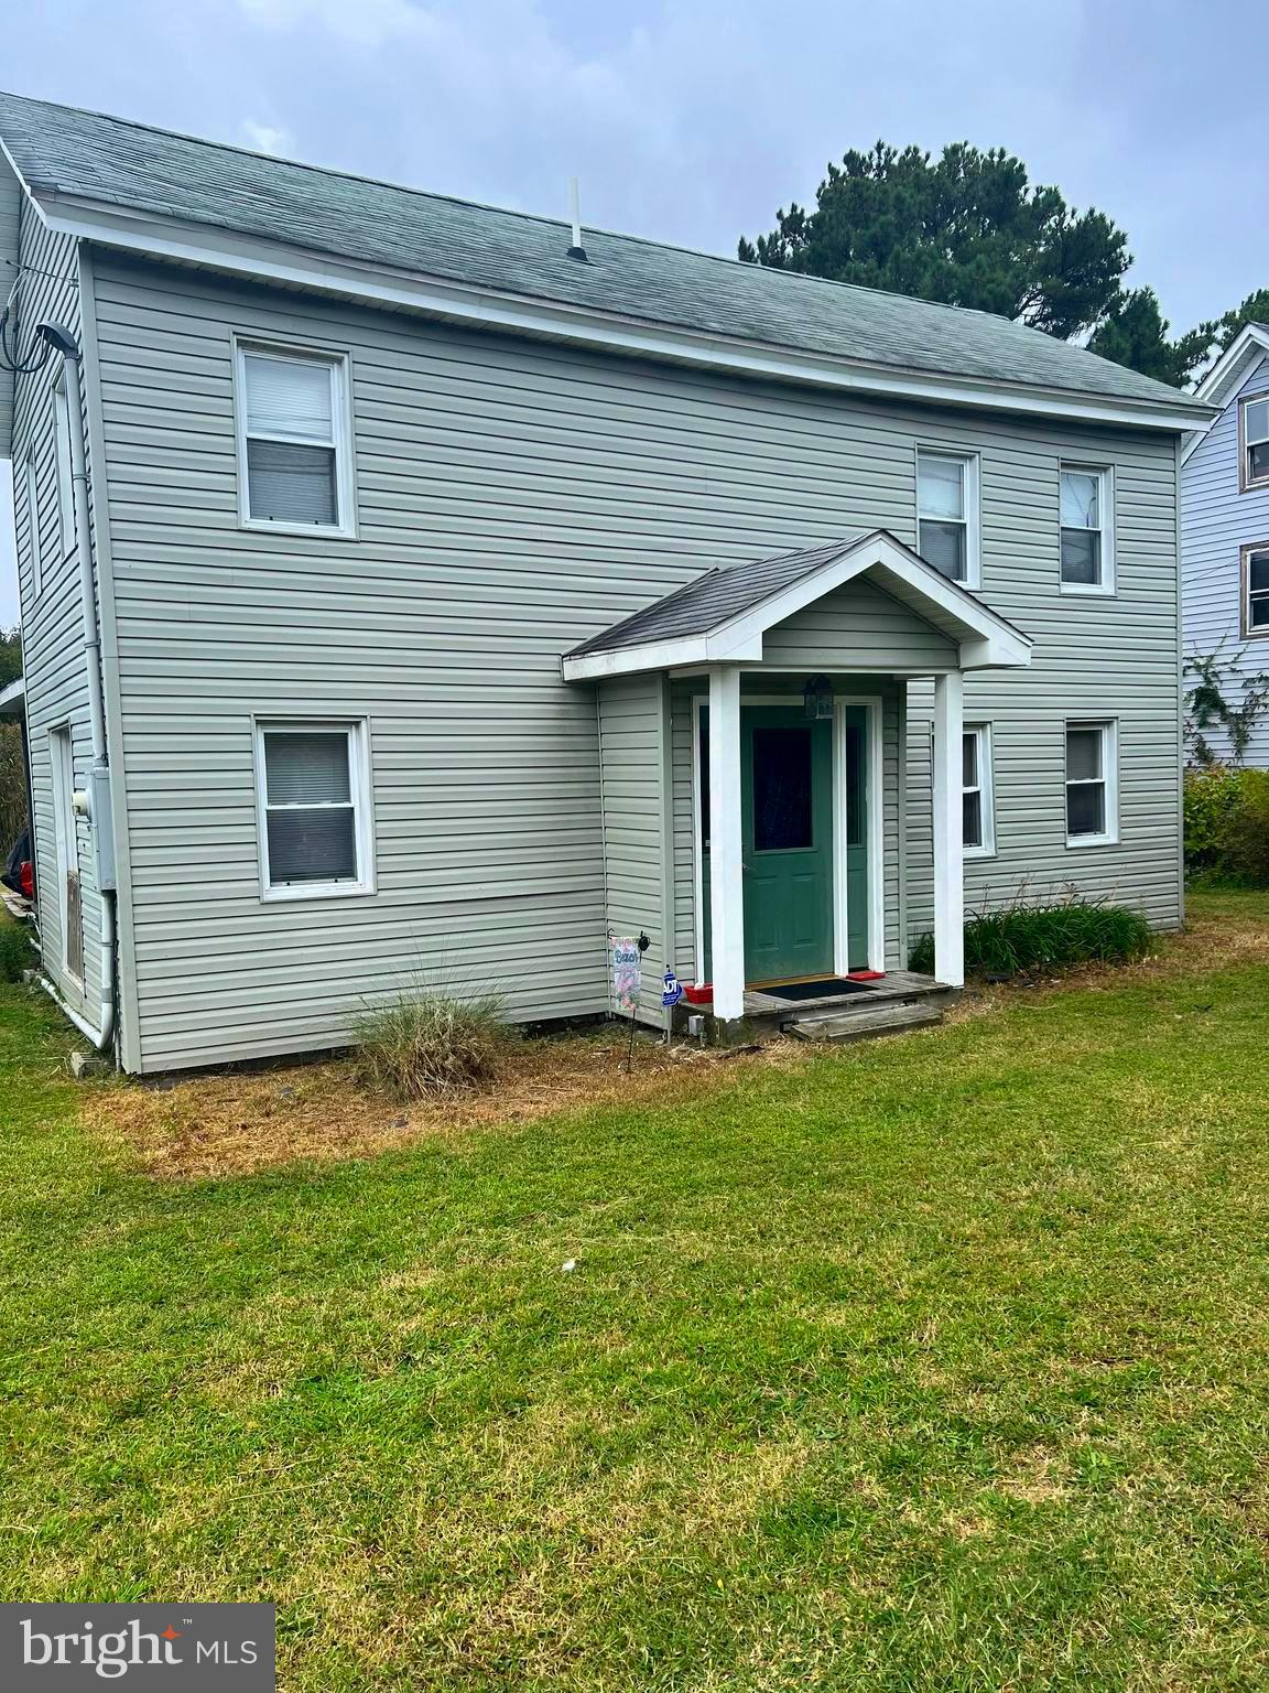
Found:
M 1152 941 L 1151 924 L 1129 906 L 1095 899 L 1015 902 L 985 911 L 964 924 L 968 975 L 1025 975 L 1076 963 L 1130 963 Z M 910 967 L 934 973 L 934 936 L 922 935 Z

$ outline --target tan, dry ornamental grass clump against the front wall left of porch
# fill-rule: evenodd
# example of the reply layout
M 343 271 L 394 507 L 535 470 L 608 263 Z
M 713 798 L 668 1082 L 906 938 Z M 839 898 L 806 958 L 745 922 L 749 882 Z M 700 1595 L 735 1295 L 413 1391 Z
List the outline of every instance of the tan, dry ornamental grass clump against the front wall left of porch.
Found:
M 357 1068 L 403 1099 L 491 1082 L 511 1040 L 501 999 L 418 989 L 354 1019 Z

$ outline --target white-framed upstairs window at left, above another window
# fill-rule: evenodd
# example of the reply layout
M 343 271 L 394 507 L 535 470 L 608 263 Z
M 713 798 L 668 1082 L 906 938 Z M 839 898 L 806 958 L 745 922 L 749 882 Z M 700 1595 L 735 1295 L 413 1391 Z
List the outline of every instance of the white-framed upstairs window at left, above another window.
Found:
M 242 523 L 352 535 L 347 357 L 239 342 L 235 367 Z

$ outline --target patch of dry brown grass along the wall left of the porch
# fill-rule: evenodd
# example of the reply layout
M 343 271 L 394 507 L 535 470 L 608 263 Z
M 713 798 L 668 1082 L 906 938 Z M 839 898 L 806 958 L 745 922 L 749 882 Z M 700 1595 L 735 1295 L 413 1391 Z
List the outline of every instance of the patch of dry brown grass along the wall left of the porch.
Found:
M 640 1036 L 628 1073 L 626 1050 L 628 1036 L 618 1028 L 514 1041 L 489 1087 L 409 1102 L 359 1082 L 355 1058 L 122 1082 L 95 1089 L 85 1119 L 149 1175 L 196 1180 L 308 1160 L 369 1158 L 618 1099 L 687 1099 L 738 1065 L 805 1062 L 792 1041 L 734 1055 L 685 1043 L 667 1051 Z

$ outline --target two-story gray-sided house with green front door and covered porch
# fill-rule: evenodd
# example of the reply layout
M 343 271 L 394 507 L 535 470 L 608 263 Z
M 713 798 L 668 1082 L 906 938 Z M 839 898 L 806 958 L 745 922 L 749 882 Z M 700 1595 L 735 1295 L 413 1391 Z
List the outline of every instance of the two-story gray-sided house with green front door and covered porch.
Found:
M 49 987 L 129 1070 L 1181 921 L 1178 462 L 1020 323 L 0 97 Z

